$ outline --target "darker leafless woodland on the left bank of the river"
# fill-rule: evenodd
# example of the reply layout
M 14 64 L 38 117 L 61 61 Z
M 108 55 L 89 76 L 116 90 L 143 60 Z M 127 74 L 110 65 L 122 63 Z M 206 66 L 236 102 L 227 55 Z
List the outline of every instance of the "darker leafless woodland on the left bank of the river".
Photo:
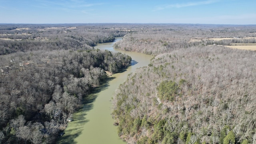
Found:
M 72 27 L 0 25 L 1 144 L 55 143 L 88 94 L 107 82 L 105 71 L 130 65 L 130 56 L 93 48 L 125 32 Z

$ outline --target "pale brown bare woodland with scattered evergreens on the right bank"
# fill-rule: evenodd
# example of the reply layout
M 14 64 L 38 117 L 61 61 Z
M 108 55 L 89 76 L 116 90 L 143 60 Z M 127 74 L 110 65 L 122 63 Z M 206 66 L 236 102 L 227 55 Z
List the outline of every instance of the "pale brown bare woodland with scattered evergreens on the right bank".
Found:
M 245 37 L 253 37 L 246 39 Z M 113 96 L 118 134 L 130 144 L 256 143 L 256 26 L 163 25 L 115 44 L 155 55 Z M 234 38 L 200 40 L 197 38 Z

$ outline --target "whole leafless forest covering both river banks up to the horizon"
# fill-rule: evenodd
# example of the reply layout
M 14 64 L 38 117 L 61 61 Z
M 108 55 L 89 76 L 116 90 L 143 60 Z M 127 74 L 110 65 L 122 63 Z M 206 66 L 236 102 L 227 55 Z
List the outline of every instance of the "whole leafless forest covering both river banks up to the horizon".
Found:
M 129 144 L 256 143 L 256 25 L 0 24 L 0 144 L 51 144 L 108 73 L 153 55 L 112 98 Z

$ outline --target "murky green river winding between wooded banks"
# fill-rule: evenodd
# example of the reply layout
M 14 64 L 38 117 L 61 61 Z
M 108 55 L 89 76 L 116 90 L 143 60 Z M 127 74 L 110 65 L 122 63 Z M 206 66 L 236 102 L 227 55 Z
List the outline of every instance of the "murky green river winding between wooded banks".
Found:
M 115 42 L 122 37 L 116 38 Z M 64 135 L 58 138 L 58 144 L 125 144 L 118 137 L 117 126 L 111 116 L 111 98 L 114 91 L 122 84 L 128 74 L 135 72 L 136 68 L 147 66 L 152 56 L 137 52 L 125 52 L 113 48 L 115 42 L 98 44 L 95 49 L 122 52 L 132 57 L 132 65 L 124 72 L 113 74 L 110 80 L 99 87 L 83 108 L 73 115 L 74 121 L 69 122 Z

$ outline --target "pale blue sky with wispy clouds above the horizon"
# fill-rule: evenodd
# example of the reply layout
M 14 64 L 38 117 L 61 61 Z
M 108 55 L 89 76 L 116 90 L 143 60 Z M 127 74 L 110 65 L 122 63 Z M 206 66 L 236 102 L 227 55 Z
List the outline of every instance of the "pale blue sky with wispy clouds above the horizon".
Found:
M 256 24 L 256 0 L 0 0 L 0 23 Z

